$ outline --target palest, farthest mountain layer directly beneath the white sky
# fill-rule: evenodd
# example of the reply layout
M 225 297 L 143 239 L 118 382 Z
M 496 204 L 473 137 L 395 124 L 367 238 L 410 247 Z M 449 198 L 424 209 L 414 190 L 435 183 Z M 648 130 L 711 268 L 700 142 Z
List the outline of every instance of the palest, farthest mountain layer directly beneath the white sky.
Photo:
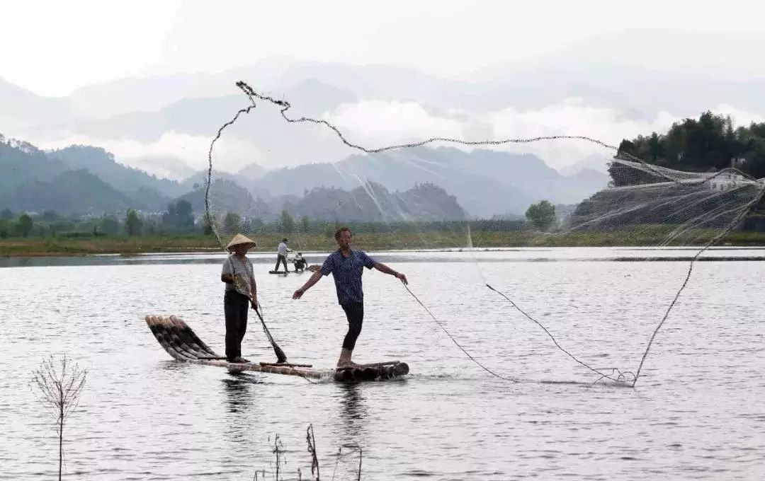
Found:
M 303 106 L 301 114 L 314 115 L 359 99 L 480 110 L 508 105 L 540 108 L 571 96 L 643 115 L 675 109 L 698 114 L 705 105 L 720 103 L 763 111 L 765 100 L 753 94 L 765 79 L 724 67 L 731 62 L 731 48 L 740 58 L 757 53 L 742 40 L 746 39 L 722 32 L 625 31 L 582 40 L 532 60 L 486 66 L 457 79 L 406 66 L 275 58 L 221 73 L 119 79 L 77 89 L 67 98 L 43 98 L 5 82 L 0 84 L 0 99 L 8 108 L 4 116 L 27 117 L 29 124 L 41 124 L 44 115 L 103 119 L 159 111 L 186 98 L 236 95 L 233 83 L 239 79 L 277 97 L 284 95 L 293 105 Z M 670 55 L 656 55 L 658 50 Z M 660 60 L 672 54 L 674 61 Z M 693 61 L 688 60 L 691 57 Z

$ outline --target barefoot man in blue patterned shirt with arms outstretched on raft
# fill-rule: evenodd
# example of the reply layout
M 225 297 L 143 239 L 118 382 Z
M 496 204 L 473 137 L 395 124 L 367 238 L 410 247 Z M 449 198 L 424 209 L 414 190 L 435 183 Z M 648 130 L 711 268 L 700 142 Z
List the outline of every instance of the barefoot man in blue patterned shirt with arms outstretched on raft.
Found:
M 304 286 L 292 294 L 292 299 L 300 299 L 308 289 L 311 289 L 316 282 L 319 282 L 321 276 L 329 276 L 332 273 L 337 289 L 337 302 L 345 311 L 348 318 L 348 332 L 343 339 L 343 349 L 340 350 L 340 359 L 337 360 L 338 367 L 353 366 L 350 360 L 353 354 L 353 348 L 356 347 L 356 339 L 361 333 L 361 324 L 364 320 L 364 292 L 361 286 L 361 275 L 363 268 L 379 270 L 381 273 L 396 276 L 401 282 L 407 284 L 408 281 L 403 273 L 392 270 L 389 266 L 379 263 L 372 257 L 366 255 L 363 250 L 353 250 L 350 245 L 353 243 L 353 234 L 349 228 L 340 228 L 335 232 L 335 240 L 340 247 L 324 260 L 321 270 L 314 272 L 311 279 L 305 282 Z

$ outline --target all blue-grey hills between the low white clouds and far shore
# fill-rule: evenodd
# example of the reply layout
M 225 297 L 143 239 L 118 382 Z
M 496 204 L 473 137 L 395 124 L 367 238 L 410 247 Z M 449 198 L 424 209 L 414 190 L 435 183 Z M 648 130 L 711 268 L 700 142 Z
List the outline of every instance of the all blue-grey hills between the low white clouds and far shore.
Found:
M 8 140 L 0 142 L 0 179 L 0 208 L 12 211 L 157 212 L 183 199 L 201 213 L 207 173 L 177 182 L 123 166 L 99 147 L 43 151 Z M 562 176 L 530 155 L 420 147 L 291 169 L 213 171 L 210 200 L 213 210 L 264 219 L 287 208 L 322 220 L 454 220 L 522 215 L 542 198 L 579 202 L 605 182 L 594 170 Z

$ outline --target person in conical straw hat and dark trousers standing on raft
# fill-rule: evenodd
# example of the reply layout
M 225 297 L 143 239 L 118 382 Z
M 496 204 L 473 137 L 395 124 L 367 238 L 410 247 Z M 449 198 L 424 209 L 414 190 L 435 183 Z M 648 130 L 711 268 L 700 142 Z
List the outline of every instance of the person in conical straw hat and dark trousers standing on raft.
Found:
M 229 242 L 229 257 L 223 262 L 220 280 L 226 282 L 223 295 L 223 312 L 226 315 L 226 360 L 229 363 L 249 363 L 242 357 L 242 340 L 247 331 L 247 312 L 250 307 L 258 310 L 257 286 L 252 262 L 247 250 L 256 247 L 255 240 L 242 234 Z

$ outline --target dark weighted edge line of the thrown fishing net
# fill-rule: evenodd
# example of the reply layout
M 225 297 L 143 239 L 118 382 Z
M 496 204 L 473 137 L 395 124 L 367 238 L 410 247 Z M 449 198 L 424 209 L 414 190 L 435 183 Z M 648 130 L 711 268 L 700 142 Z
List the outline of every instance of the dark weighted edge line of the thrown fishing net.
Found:
M 464 145 L 464 146 L 498 146 L 498 145 L 506 145 L 506 144 L 531 144 L 531 143 L 539 142 L 539 141 L 542 141 L 542 140 L 584 140 L 584 141 L 590 142 L 592 144 L 597 144 L 597 145 L 599 145 L 601 147 L 604 147 L 604 148 L 607 148 L 609 150 L 614 150 L 616 152 L 616 154 L 614 156 L 615 158 L 622 158 L 624 160 L 630 160 L 632 162 L 640 163 L 640 166 L 643 166 L 643 168 L 645 168 L 646 170 L 649 170 L 650 173 L 653 173 L 654 175 L 656 175 L 658 177 L 661 177 L 661 178 L 666 179 L 666 180 L 671 181 L 671 182 L 681 183 L 681 182 L 679 182 L 678 179 L 674 179 L 671 176 L 669 176 L 668 174 L 663 173 L 662 170 L 656 168 L 656 166 L 653 166 L 652 164 L 646 163 L 644 160 L 640 159 L 639 157 L 635 157 L 635 156 L 631 155 L 630 153 L 626 153 L 626 152 L 620 151 L 619 148 L 615 147 L 614 145 L 606 144 L 605 142 L 603 142 L 601 140 L 595 139 L 593 137 L 587 137 L 587 136 L 584 136 L 584 135 L 548 135 L 548 136 L 527 137 L 527 138 L 508 138 L 508 139 L 500 139 L 500 140 L 463 140 L 463 139 L 457 139 L 457 138 L 452 138 L 452 137 L 430 137 L 428 139 L 421 140 L 421 141 L 418 141 L 418 142 L 411 142 L 409 144 L 396 144 L 396 145 L 389 145 L 389 146 L 377 147 L 377 148 L 370 149 L 370 148 L 367 148 L 367 147 L 363 147 L 362 145 L 353 144 L 352 142 L 347 140 L 345 136 L 343 136 L 343 133 L 340 131 L 339 128 L 337 128 L 334 124 L 331 124 L 330 122 L 328 122 L 328 121 L 326 121 L 324 119 L 317 119 L 317 118 L 310 118 L 310 117 L 301 117 L 301 118 L 290 118 L 290 117 L 288 117 L 286 112 L 291 108 L 291 104 L 289 102 L 285 101 L 285 100 L 277 100 L 277 99 L 272 98 L 272 97 L 270 97 L 268 95 L 259 94 L 254 89 L 252 89 L 252 87 L 250 87 L 246 82 L 243 82 L 243 81 L 236 82 L 236 86 L 239 87 L 239 89 L 241 89 L 245 93 L 245 95 L 247 95 L 251 105 L 249 105 L 247 108 L 239 109 L 239 111 L 236 112 L 236 115 L 234 115 L 234 117 L 230 121 L 226 122 L 226 124 L 223 124 L 223 126 L 221 126 L 221 128 L 218 129 L 216 137 L 213 139 L 213 141 L 210 144 L 210 150 L 208 151 L 208 155 L 207 155 L 207 160 L 208 160 L 208 164 L 209 165 L 208 165 L 208 170 L 207 170 L 207 186 L 206 186 L 206 189 L 205 189 L 205 198 L 204 198 L 205 209 L 206 209 L 206 213 L 207 213 L 207 218 L 210 221 L 210 226 L 212 227 L 213 232 L 215 233 L 216 238 L 218 239 L 218 241 L 219 241 L 219 243 L 221 245 L 223 245 L 223 242 L 221 241 L 220 234 L 217 231 L 217 228 L 216 228 L 216 225 L 215 225 L 216 223 L 213 221 L 213 216 L 212 216 L 212 214 L 210 212 L 210 203 L 209 203 L 210 183 L 212 181 L 212 172 L 213 172 L 213 148 L 214 148 L 214 145 L 215 145 L 216 141 L 220 139 L 220 136 L 223 133 L 223 130 L 225 128 L 227 128 L 231 124 L 234 124 L 239 119 L 240 115 L 242 115 L 242 114 L 249 114 L 249 112 L 252 110 L 252 108 L 256 108 L 257 107 L 256 98 L 258 100 L 260 100 L 260 101 L 269 102 L 272 105 L 280 107 L 281 109 L 280 109 L 279 113 L 280 113 L 280 115 L 282 115 L 282 118 L 285 121 L 287 121 L 288 123 L 290 123 L 290 124 L 310 123 L 310 124 L 323 125 L 325 128 L 329 128 L 331 131 L 334 131 L 334 133 L 337 135 L 337 137 L 340 139 L 340 141 L 343 144 L 345 144 L 347 147 L 350 147 L 350 148 L 355 149 L 355 150 L 360 150 L 361 152 L 364 152 L 364 153 L 381 153 L 381 152 L 386 152 L 386 151 L 389 151 L 389 150 L 403 150 L 403 149 L 408 149 L 408 148 L 412 148 L 412 147 L 422 147 L 422 146 L 425 146 L 427 144 L 433 144 L 433 143 L 436 143 L 436 142 L 447 142 L 447 143 L 451 143 L 451 144 L 461 144 L 461 145 Z M 736 171 L 736 169 L 731 169 L 731 170 L 734 170 L 734 172 Z M 720 175 L 722 172 L 723 171 L 720 171 L 719 173 L 716 173 L 716 174 L 714 174 L 712 176 L 709 176 L 706 179 L 703 179 L 701 181 L 701 183 L 709 182 L 711 179 L 714 179 L 716 176 Z M 682 286 L 680 286 L 678 291 L 675 293 L 675 297 L 672 300 L 672 302 L 669 304 L 669 306 L 668 306 L 668 308 L 667 308 L 667 310 L 665 312 L 665 315 L 663 316 L 662 320 L 659 321 L 659 324 L 654 329 L 653 334 L 651 335 L 651 337 L 649 339 L 649 342 L 646 345 L 646 350 L 643 352 L 643 357 L 640 360 L 640 366 L 638 366 L 637 372 L 634 373 L 634 374 L 631 373 L 630 371 L 621 372 L 617 368 L 613 368 L 611 374 L 606 374 L 606 373 L 601 372 L 600 370 L 597 370 L 597 369 L 589 366 L 587 363 L 584 363 L 583 361 L 578 360 L 577 357 L 575 357 L 574 355 L 569 353 L 568 350 L 565 350 L 560 344 L 558 344 L 558 341 L 555 340 L 555 337 L 547 330 L 547 328 L 545 328 L 542 324 L 540 324 L 539 321 L 536 321 L 534 318 L 532 318 L 531 316 L 526 314 L 526 312 L 524 312 L 521 308 L 519 308 L 519 306 L 516 305 L 515 302 L 513 302 L 511 299 L 509 299 L 509 297 L 504 295 L 502 292 L 497 291 L 496 289 L 494 289 L 492 286 L 490 286 L 490 284 L 486 283 L 486 286 L 487 286 L 488 289 L 492 290 L 493 292 L 496 292 L 497 294 L 503 296 L 504 299 L 506 299 L 507 301 L 510 302 L 511 305 L 513 305 L 513 308 L 516 308 L 516 310 L 521 312 L 522 315 L 525 315 L 526 318 L 529 318 L 531 321 L 534 321 L 536 324 L 538 324 L 539 327 L 542 328 L 542 330 L 544 330 L 545 333 L 548 334 L 548 336 L 552 339 L 553 343 L 555 344 L 555 347 L 557 347 L 559 350 L 562 350 L 562 352 L 565 353 L 566 355 L 568 355 L 568 357 L 571 357 L 571 359 L 575 360 L 577 363 L 579 363 L 582 366 L 586 367 L 588 370 L 591 370 L 594 373 L 597 373 L 598 375 L 600 375 L 601 378 L 597 379 L 595 381 L 595 383 L 597 383 L 601 379 L 610 379 L 610 380 L 615 381 L 617 383 L 625 383 L 625 382 L 629 382 L 630 381 L 630 379 L 628 379 L 627 376 L 632 376 L 631 387 L 634 387 L 635 384 L 637 383 L 637 379 L 640 377 L 640 371 L 643 368 L 643 363 L 645 362 L 646 357 L 648 356 L 649 350 L 650 350 L 650 348 L 651 348 L 651 346 L 653 344 L 653 341 L 654 341 L 654 339 L 656 337 L 656 334 L 658 334 L 659 330 L 662 328 L 662 326 L 665 323 L 666 319 L 669 318 L 669 313 L 672 312 L 672 308 L 675 307 L 675 304 L 676 304 L 677 300 L 679 299 L 679 297 L 682 294 L 682 292 L 685 289 L 685 287 L 688 285 L 688 280 L 691 277 L 691 274 L 692 274 L 692 271 L 693 271 L 693 265 L 694 265 L 695 261 L 698 260 L 698 257 L 700 257 L 702 255 L 702 253 L 705 252 L 705 250 L 708 250 L 709 247 L 711 247 L 712 245 L 716 244 L 725 235 L 727 235 L 729 232 L 731 232 L 736 227 L 738 222 L 741 221 L 742 218 L 744 218 L 744 215 L 747 214 L 747 211 L 749 211 L 749 209 L 752 206 L 754 206 L 758 202 L 760 202 L 760 199 L 763 198 L 763 194 L 765 194 L 765 182 L 761 182 L 760 181 L 760 182 L 758 182 L 758 184 L 759 184 L 759 187 L 760 187 L 760 191 L 758 192 L 758 194 L 746 206 L 744 206 L 744 208 L 741 208 L 741 211 L 738 213 L 736 218 L 734 218 L 734 221 L 731 221 L 731 223 L 728 224 L 727 228 L 725 228 L 725 230 L 721 234 L 718 234 L 717 236 L 712 238 L 710 241 L 708 241 L 707 244 L 703 245 L 698 250 L 698 252 L 695 253 L 695 256 L 692 257 L 692 260 L 688 264 L 688 273 L 685 276 L 685 281 L 682 283 Z M 441 322 L 438 321 L 437 318 L 435 318 L 435 315 L 433 315 L 430 312 L 430 310 L 427 307 L 425 307 L 425 305 L 417 298 L 417 296 L 411 290 L 409 290 L 408 287 L 406 289 L 407 289 L 407 291 L 409 291 L 409 294 L 411 294 L 412 297 L 414 297 L 415 300 L 420 305 L 422 305 L 423 308 L 425 308 L 425 311 L 428 312 L 428 314 L 431 316 L 431 318 L 433 318 L 436 321 L 436 323 L 438 323 L 438 326 L 448 335 L 448 337 L 451 338 L 451 341 L 453 341 L 454 344 L 456 344 L 457 347 L 459 347 L 467 355 L 467 357 L 472 362 L 476 363 L 483 370 L 486 370 L 488 373 L 490 373 L 493 376 L 496 376 L 496 377 L 498 377 L 500 379 L 504 379 L 506 381 L 518 382 L 517 379 L 506 378 L 504 376 L 500 376 L 500 375 L 498 375 L 496 373 L 493 373 L 493 371 L 489 370 L 486 366 L 483 366 L 483 364 L 480 363 L 478 360 L 476 360 L 473 356 L 471 356 L 470 353 L 468 353 L 467 350 L 465 350 L 464 347 L 461 346 L 461 344 L 457 343 L 457 341 L 454 339 L 454 337 L 444 328 L 444 326 L 441 324 Z M 617 373 L 618 375 L 614 377 L 614 373 Z

